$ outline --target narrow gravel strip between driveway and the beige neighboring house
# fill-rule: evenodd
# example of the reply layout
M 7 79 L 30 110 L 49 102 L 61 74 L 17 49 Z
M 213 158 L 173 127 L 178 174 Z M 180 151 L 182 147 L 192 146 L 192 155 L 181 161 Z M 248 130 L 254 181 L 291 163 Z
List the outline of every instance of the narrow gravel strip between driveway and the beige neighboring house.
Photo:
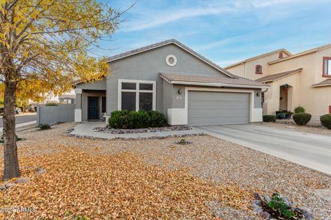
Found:
M 260 123 L 259 123 L 260 124 Z M 307 132 L 307 133 L 317 133 L 319 135 L 328 135 L 331 136 L 331 130 L 326 129 L 322 126 L 299 126 L 297 124 L 293 124 L 292 121 L 284 121 L 284 122 L 262 122 L 261 125 L 263 126 L 270 126 L 279 129 L 290 129 L 292 131 L 299 131 L 299 132 Z

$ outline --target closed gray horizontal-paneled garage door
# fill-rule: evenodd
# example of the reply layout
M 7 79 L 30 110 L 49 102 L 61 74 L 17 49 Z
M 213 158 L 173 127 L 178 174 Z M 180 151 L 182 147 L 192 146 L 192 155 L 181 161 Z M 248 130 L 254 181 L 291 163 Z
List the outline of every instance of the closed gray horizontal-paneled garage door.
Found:
M 248 124 L 250 94 L 210 91 L 188 92 L 188 124 Z

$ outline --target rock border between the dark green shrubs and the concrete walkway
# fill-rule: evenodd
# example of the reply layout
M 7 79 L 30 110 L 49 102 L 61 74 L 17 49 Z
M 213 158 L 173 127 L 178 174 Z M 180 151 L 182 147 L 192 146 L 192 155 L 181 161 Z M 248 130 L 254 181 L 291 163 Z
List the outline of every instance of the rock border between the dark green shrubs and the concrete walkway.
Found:
M 101 133 L 111 133 L 114 135 L 124 134 L 124 133 L 152 133 L 161 131 L 187 131 L 192 130 L 191 126 L 162 126 L 159 128 L 146 128 L 146 129 L 112 129 L 108 126 L 106 127 L 96 127 L 93 129 L 94 132 Z

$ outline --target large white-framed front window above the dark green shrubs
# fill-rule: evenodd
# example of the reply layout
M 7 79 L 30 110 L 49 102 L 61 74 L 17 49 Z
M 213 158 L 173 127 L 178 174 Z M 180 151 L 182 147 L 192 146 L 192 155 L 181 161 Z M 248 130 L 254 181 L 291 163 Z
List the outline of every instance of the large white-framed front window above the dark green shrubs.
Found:
M 119 79 L 118 109 L 139 111 L 155 110 L 157 83 L 153 80 Z

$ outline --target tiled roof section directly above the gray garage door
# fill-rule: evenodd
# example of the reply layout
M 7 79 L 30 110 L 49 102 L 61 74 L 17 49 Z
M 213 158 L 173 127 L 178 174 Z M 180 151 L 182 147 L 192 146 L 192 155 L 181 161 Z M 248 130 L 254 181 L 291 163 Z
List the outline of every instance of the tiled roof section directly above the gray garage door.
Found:
M 267 88 L 268 85 L 249 80 L 246 78 L 228 78 L 221 76 L 199 76 L 192 74 L 178 74 L 161 72 L 161 78 L 172 84 L 183 85 L 206 85 L 214 87 L 250 87 L 250 88 Z

